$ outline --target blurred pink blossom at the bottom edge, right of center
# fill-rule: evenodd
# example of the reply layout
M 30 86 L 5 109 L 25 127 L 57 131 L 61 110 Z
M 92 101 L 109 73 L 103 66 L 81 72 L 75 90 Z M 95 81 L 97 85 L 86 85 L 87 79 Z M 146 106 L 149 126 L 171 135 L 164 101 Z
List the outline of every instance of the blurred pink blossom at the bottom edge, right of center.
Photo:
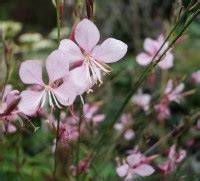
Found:
M 127 180 L 135 180 L 138 176 L 145 177 L 154 173 L 154 168 L 148 163 L 155 156 L 145 157 L 141 153 L 129 155 L 122 163 L 118 160 L 116 172 Z

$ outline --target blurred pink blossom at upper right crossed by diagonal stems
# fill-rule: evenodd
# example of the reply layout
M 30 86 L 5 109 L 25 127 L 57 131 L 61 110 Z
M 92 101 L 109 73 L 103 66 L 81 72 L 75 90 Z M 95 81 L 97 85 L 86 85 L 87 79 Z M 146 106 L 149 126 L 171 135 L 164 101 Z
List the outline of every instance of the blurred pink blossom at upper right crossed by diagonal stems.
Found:
M 142 66 L 146 66 L 151 63 L 153 57 L 156 55 L 162 44 L 164 43 L 164 36 L 160 35 L 157 40 L 146 38 L 144 40 L 144 51 L 136 56 L 136 61 Z M 155 61 L 160 58 L 164 51 L 168 48 L 169 42 L 166 42 L 158 53 Z M 171 53 L 171 49 L 163 56 L 162 60 L 158 63 L 161 69 L 169 69 L 173 66 L 174 56 Z

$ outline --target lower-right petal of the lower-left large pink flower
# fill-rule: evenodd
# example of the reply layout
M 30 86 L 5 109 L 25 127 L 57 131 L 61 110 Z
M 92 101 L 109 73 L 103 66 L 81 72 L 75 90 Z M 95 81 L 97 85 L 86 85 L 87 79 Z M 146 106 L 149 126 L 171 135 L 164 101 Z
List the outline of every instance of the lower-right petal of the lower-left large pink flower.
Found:
M 70 81 L 64 81 L 61 86 L 53 89 L 53 93 L 55 94 L 59 103 L 63 106 L 72 105 L 77 96 L 74 84 Z

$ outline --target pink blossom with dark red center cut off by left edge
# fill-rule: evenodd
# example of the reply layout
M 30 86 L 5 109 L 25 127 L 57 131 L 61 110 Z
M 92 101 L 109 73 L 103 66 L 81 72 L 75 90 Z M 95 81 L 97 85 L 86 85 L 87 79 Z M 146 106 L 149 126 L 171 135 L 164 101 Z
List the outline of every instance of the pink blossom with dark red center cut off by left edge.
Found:
M 4 91 L 0 93 L 0 120 L 4 132 L 13 133 L 16 127 L 13 122 L 18 118 L 17 104 L 19 102 L 19 91 L 12 90 L 11 85 L 6 85 Z

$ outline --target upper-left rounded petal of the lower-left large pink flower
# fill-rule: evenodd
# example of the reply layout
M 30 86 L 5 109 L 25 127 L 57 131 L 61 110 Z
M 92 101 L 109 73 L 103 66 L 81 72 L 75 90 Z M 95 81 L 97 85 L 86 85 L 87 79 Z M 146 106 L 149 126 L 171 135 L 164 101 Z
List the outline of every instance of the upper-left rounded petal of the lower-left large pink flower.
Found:
M 44 85 L 42 80 L 42 66 L 37 60 L 26 60 L 19 69 L 19 76 L 25 84 Z

